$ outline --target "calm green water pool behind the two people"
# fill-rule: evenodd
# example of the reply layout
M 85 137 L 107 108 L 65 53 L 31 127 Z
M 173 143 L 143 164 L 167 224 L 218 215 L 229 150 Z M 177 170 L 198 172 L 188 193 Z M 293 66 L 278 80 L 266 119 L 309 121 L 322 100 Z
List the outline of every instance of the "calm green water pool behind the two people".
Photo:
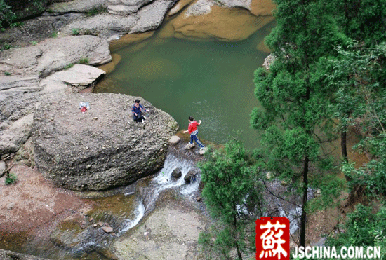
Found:
M 156 33 L 115 51 L 121 62 L 95 92 L 143 97 L 171 114 L 180 130 L 187 129 L 188 116 L 201 119 L 199 137 L 218 144 L 241 130 L 246 147 L 253 149 L 259 144 L 249 123 L 258 106 L 253 72 L 268 55 L 256 46 L 272 27 L 274 22 L 238 42 L 160 39 Z

